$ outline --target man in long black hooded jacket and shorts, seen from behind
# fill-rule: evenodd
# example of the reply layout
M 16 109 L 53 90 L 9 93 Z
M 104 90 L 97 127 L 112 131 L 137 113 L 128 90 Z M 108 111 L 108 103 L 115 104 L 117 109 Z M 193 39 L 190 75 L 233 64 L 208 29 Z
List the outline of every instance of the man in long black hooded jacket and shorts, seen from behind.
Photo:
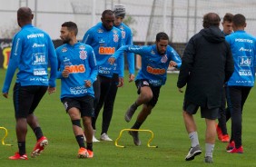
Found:
M 206 123 L 204 162 L 212 162 L 216 137 L 215 120 L 219 117 L 222 86 L 234 70 L 231 48 L 219 28 L 220 22 L 217 14 L 204 15 L 203 29 L 192 36 L 182 56 L 177 87 L 182 93 L 182 87 L 187 84 L 183 119 L 192 142 L 186 161 L 191 161 L 202 153 L 192 116 L 201 107 L 201 117 L 205 118 Z

